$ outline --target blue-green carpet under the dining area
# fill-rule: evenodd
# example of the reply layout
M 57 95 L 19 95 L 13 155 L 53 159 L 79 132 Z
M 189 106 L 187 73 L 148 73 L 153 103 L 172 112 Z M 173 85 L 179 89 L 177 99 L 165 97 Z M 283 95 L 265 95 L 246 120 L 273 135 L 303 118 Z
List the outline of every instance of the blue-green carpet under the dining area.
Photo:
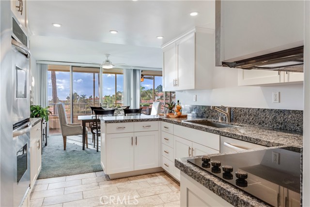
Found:
M 81 136 L 72 137 L 82 140 Z M 100 150 L 97 152 L 93 148 L 92 135 L 89 137 L 89 148 L 85 147 L 85 150 L 78 142 L 68 142 L 70 137 L 67 137 L 66 150 L 63 150 L 62 136 L 48 137 L 47 146 L 43 147 L 42 169 L 38 179 L 102 171 Z

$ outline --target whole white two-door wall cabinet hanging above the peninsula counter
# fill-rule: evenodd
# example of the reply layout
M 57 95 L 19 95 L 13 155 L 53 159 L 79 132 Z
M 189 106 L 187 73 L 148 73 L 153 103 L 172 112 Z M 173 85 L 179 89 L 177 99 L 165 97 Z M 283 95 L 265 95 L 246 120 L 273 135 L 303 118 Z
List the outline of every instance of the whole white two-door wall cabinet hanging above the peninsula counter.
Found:
M 196 28 L 164 45 L 163 90 L 211 89 L 214 30 Z

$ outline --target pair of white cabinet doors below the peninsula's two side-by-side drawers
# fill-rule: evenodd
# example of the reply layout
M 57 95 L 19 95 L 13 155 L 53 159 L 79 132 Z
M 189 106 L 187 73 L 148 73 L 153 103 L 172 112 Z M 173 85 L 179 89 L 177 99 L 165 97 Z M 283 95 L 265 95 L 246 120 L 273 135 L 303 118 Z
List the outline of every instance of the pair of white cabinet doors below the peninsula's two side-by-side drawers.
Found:
M 106 150 L 108 175 L 159 166 L 158 131 L 107 134 Z

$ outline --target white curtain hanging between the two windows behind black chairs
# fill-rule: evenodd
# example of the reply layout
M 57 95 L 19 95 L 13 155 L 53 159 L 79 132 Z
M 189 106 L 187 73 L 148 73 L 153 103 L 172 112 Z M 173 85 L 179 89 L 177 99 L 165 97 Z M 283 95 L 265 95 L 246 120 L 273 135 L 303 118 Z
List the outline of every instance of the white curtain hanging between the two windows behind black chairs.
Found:
M 124 69 L 124 106 L 130 109 L 140 108 L 141 70 Z

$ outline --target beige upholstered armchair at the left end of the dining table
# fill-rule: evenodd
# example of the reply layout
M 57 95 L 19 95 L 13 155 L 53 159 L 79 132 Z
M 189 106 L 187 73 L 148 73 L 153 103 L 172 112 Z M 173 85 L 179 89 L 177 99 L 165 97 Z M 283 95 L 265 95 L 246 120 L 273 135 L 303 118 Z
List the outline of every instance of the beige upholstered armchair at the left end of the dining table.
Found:
M 60 127 L 62 130 L 63 150 L 66 150 L 67 136 L 82 135 L 83 128 L 81 124 L 67 123 L 66 112 L 64 111 L 64 106 L 62 103 L 57 103 L 56 108 L 58 111 Z M 86 128 L 85 142 L 86 142 L 86 148 L 88 148 L 87 128 Z

